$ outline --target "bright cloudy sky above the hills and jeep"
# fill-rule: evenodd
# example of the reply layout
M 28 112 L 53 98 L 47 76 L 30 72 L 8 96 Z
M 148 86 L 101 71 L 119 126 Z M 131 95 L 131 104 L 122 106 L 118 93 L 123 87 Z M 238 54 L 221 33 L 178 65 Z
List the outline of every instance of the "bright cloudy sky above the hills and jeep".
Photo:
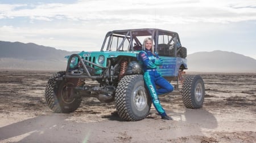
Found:
M 256 59 L 256 0 L 0 0 L 0 41 L 96 51 L 108 31 L 134 28 L 177 32 L 188 54 Z

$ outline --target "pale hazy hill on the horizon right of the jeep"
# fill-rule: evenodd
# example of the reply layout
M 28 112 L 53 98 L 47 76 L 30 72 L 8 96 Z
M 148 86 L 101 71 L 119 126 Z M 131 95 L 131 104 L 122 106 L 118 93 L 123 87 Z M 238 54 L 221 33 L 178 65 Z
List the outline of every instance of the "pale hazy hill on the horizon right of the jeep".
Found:
M 256 60 L 229 51 L 189 54 L 188 71 L 196 72 L 256 72 Z

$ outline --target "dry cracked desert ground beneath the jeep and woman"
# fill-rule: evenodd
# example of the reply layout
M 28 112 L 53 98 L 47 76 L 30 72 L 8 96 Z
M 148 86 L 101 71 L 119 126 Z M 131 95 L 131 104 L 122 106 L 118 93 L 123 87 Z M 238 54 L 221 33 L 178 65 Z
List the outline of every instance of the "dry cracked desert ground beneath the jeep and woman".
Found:
M 256 142 L 256 73 L 200 73 L 203 108 L 185 109 L 176 90 L 160 97 L 174 120 L 160 119 L 152 106 L 137 122 L 93 97 L 75 112 L 53 113 L 44 99 L 53 73 L 0 71 L 0 142 Z

